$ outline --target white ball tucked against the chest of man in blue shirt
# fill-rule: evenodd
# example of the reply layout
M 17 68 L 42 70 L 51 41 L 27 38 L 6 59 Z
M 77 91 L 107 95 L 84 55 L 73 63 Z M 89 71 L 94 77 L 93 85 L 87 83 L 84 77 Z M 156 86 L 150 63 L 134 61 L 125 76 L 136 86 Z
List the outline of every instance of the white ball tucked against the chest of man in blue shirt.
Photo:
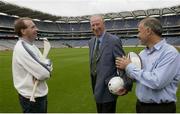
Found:
M 138 69 L 142 69 L 142 63 L 141 63 L 141 58 L 139 57 L 138 54 L 135 52 L 129 52 L 128 53 L 128 58 L 131 60 L 131 62 L 136 65 Z

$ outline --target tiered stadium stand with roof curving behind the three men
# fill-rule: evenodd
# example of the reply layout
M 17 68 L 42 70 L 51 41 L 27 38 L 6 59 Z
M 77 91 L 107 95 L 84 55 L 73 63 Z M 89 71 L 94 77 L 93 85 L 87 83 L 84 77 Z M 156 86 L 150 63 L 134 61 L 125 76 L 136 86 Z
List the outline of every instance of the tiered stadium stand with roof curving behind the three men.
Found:
M 38 37 L 47 37 L 54 48 L 87 47 L 88 40 L 93 36 L 89 24 L 90 16 L 57 17 L 2 1 L 0 5 L 4 6 L 0 8 L 0 12 L 4 13 L 0 15 L 1 49 L 13 49 L 17 40 L 13 23 L 18 17 L 12 15 L 38 19 L 34 20 L 39 29 Z M 17 10 L 13 11 L 12 8 Z M 21 13 L 21 11 L 27 13 Z M 137 46 L 139 45 L 137 25 L 142 18 L 147 16 L 158 18 L 164 28 L 163 37 L 170 44 L 180 46 L 180 6 L 104 14 L 105 26 L 108 32 L 121 37 L 123 45 Z M 36 44 L 42 47 L 41 41 L 37 41 Z

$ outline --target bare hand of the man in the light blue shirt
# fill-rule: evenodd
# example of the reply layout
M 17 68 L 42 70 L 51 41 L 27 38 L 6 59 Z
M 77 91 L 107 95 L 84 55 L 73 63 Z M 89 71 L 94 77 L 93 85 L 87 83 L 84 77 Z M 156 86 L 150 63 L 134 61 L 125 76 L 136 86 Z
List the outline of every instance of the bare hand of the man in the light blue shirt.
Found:
M 131 63 L 131 60 L 125 56 L 116 58 L 116 67 L 118 69 L 124 70 L 129 63 Z

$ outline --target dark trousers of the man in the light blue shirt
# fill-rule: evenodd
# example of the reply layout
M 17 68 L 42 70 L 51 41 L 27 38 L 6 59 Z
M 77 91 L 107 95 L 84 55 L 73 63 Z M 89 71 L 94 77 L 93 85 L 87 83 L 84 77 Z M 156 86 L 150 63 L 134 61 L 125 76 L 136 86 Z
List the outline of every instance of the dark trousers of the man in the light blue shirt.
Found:
M 176 113 L 176 103 L 143 103 L 137 100 L 137 113 Z

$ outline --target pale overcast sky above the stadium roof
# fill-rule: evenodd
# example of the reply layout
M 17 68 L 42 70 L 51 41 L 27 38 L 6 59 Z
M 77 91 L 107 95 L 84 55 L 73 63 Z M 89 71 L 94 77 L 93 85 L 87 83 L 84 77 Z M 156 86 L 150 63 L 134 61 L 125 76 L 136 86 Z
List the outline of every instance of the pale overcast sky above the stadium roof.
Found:
M 57 16 L 84 16 L 99 13 L 164 8 L 180 0 L 2 0 Z

